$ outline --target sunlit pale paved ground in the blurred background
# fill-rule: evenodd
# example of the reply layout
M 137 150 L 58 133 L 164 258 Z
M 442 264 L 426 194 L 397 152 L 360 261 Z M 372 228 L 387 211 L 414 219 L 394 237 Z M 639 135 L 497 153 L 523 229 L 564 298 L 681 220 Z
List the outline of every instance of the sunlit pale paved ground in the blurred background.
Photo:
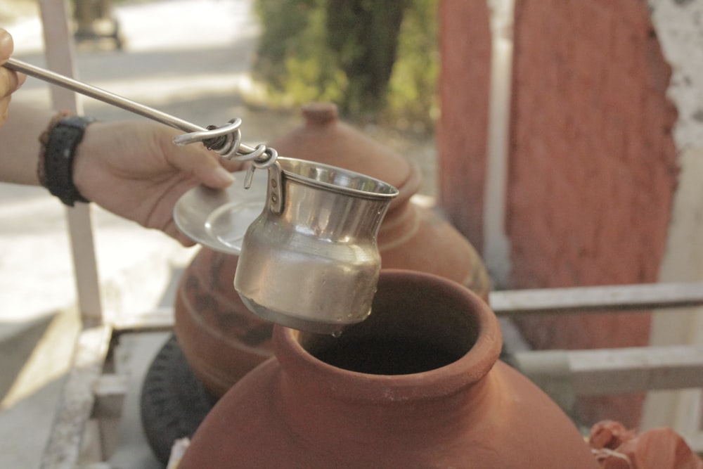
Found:
M 22 3 L 23 2 L 23 3 Z M 44 65 L 41 25 L 30 2 L 13 21 L 0 7 L 0 25 L 15 39 L 15 56 Z M 301 123 L 297 114 L 245 105 L 258 28 L 251 0 L 140 1 L 115 9 L 124 51 L 79 48 L 79 77 L 134 101 L 207 125 L 243 119 L 247 143 L 275 139 Z M 16 14 L 20 17 L 17 18 Z M 168 27 L 162 27 L 168 24 Z M 48 105 L 46 84 L 28 79 L 15 101 Z M 85 98 L 86 114 L 105 120 L 141 119 Z M 366 129 L 372 132 L 373 129 Z M 375 135 L 372 133 L 372 135 Z M 422 192 L 434 195 L 434 145 L 394 134 L 376 135 L 425 172 Z M 185 249 L 99 209 L 93 210 L 103 304 L 110 311 L 144 311 L 171 302 L 172 274 L 196 248 Z M 78 330 L 75 286 L 65 224 L 57 200 L 41 188 L 0 184 L 0 468 L 34 468 L 49 435 L 53 409 Z M 129 339 L 122 366 L 134 392 L 115 467 L 158 467 L 141 439 L 136 399 L 141 373 L 162 336 Z

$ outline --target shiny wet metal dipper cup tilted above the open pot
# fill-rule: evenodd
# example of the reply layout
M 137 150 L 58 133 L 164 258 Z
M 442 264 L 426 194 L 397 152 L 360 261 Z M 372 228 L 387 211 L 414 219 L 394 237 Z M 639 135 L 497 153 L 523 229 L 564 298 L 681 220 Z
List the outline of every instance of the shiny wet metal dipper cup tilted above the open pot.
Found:
M 366 319 L 380 272 L 376 235 L 393 186 L 279 157 L 262 214 L 245 234 L 234 286 L 254 314 L 337 333 Z

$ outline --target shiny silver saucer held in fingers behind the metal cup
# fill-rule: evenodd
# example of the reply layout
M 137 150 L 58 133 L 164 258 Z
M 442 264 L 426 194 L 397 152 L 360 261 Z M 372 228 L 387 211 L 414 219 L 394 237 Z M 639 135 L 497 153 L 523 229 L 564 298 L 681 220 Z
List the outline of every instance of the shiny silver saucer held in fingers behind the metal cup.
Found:
M 267 172 L 254 172 L 248 189 L 244 188 L 245 171 L 232 174 L 235 181 L 226 189 L 200 185 L 181 195 L 174 207 L 174 221 L 196 243 L 239 255 L 247 228 L 264 210 Z

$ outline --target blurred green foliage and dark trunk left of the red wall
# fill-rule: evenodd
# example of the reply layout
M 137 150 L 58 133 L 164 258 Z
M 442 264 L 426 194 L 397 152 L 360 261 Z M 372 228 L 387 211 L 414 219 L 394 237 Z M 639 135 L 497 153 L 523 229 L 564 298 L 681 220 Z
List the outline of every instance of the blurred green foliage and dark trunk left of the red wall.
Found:
M 352 118 L 432 128 L 438 0 L 257 0 L 254 76 L 270 105 L 333 101 Z

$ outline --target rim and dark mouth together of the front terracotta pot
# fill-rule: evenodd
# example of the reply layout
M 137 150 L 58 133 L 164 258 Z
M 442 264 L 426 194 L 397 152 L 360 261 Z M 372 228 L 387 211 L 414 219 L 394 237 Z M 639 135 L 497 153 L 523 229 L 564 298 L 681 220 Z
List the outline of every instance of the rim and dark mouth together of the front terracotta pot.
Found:
M 498 320 L 470 290 L 393 270 L 382 271 L 368 319 L 339 338 L 280 327 L 273 337 L 290 395 L 373 406 L 465 392 L 490 371 L 502 343 Z

